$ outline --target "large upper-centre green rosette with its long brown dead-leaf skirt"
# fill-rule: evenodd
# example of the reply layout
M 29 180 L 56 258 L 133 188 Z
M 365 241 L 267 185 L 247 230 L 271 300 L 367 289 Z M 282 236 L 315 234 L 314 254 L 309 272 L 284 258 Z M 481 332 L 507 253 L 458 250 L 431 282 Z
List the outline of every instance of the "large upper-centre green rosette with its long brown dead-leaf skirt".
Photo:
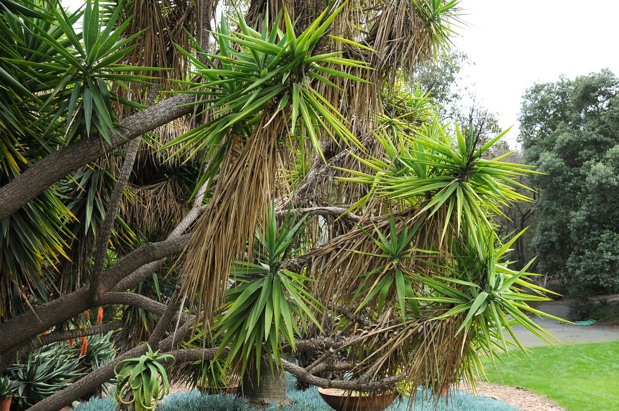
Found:
M 193 92 L 208 97 L 212 119 L 163 148 L 180 145 L 179 153 L 206 150 L 204 158 L 209 163 L 197 187 L 210 184 L 219 173 L 211 199 L 217 207 L 210 207 L 197 223 L 184 264 L 188 274 L 184 290 L 197 295 L 196 308 L 204 308 L 207 319 L 223 295 L 226 267 L 230 267 L 235 253 L 245 251 L 246 239 L 266 215 L 274 194 L 280 142 L 307 139 L 321 153 L 318 136 L 322 131 L 338 143 L 336 136 L 345 143 L 359 144 L 337 110 L 308 81 L 318 79 L 337 87 L 323 74 L 364 81 L 326 65 L 366 67 L 365 63 L 341 58 L 341 53 L 312 55 L 343 7 L 325 10 L 298 36 L 286 11 L 278 15 L 272 28 L 266 18 L 262 32 L 249 28 L 239 15 L 240 31 L 231 33 L 222 19 L 216 33 L 220 54 L 205 54 L 207 65 L 189 56 L 197 74 L 207 80 L 194 85 Z M 282 16 L 285 33 L 278 28 Z M 250 243 L 250 254 L 251 248 Z

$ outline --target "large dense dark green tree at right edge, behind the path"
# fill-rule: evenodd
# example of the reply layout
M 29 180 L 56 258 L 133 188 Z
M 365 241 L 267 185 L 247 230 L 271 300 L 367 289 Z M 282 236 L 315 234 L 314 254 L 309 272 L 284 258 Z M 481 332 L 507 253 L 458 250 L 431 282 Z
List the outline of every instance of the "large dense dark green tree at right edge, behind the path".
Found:
M 619 79 L 607 69 L 535 84 L 524 95 L 525 161 L 547 175 L 532 246 L 539 270 L 597 292 L 619 290 Z

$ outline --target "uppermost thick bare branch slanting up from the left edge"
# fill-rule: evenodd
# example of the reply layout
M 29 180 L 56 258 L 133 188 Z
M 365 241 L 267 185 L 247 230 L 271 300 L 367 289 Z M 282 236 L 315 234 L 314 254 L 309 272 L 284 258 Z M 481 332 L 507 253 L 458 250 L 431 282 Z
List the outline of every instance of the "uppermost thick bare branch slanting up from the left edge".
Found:
M 190 113 L 193 106 L 180 105 L 194 100 L 194 95 L 179 94 L 123 119 L 116 128 L 117 132 L 110 132 L 110 144 L 102 139 L 85 138 L 42 158 L 19 177 L 0 188 L 0 220 L 24 207 L 28 201 L 72 171 L 97 160 L 147 131 Z

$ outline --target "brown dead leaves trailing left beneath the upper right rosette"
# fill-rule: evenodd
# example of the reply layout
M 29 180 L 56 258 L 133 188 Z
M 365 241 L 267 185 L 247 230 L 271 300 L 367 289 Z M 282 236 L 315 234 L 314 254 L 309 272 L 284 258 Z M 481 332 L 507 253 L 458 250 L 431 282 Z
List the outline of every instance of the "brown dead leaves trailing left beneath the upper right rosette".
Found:
M 428 217 L 427 212 L 420 211 L 422 207 L 394 214 L 391 214 L 393 205 L 378 202 L 374 207 L 381 215 L 372 220 L 366 218 L 347 234 L 337 236 L 309 253 L 311 276 L 321 285 L 316 295 L 322 304 L 363 301 L 367 297 L 360 294 L 363 290 L 367 290 L 368 295 L 374 295 L 366 303 L 372 301 L 378 304 L 379 298 L 393 296 L 393 289 L 391 295 L 381 296 L 375 288 L 383 281 L 392 261 L 391 257 L 386 260 L 384 244 L 381 244 L 383 240 L 383 243 L 401 241 L 399 235 L 410 233 L 409 244 L 402 250 L 405 254 L 397 262 L 405 272 L 428 273 L 430 266 L 425 262 L 447 253 L 448 246 L 441 240 L 446 217 L 443 212 Z M 443 274 L 434 269 L 435 275 Z M 374 274 L 368 276 L 364 273 Z

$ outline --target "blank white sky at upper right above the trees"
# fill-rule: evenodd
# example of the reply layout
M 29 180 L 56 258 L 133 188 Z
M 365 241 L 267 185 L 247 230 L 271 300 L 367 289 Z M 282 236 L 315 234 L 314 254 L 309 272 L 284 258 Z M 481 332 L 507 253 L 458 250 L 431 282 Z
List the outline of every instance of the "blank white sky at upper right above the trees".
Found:
M 461 72 L 476 103 L 514 126 L 524 90 L 608 67 L 619 75 L 619 1 L 462 0 L 462 37 L 454 41 L 475 65 Z

